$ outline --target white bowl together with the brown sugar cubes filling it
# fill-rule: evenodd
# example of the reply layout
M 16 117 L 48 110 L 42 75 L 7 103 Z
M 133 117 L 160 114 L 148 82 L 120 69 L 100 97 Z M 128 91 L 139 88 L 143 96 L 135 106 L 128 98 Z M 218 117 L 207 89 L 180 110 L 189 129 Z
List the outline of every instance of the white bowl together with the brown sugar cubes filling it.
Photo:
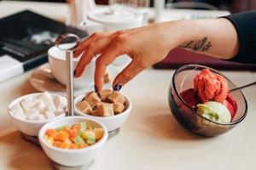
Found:
M 108 132 L 118 129 L 131 113 L 131 100 L 111 89 L 102 89 L 99 96 L 88 92 L 74 99 L 75 114 L 102 122 Z

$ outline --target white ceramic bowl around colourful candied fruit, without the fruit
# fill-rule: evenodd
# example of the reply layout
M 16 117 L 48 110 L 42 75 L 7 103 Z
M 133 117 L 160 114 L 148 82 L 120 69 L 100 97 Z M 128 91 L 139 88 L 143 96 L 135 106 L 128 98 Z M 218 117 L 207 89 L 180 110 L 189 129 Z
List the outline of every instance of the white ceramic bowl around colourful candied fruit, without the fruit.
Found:
M 83 149 L 77 150 L 68 150 L 56 148 L 55 146 L 51 146 L 44 139 L 44 133 L 48 128 L 61 127 L 64 125 L 73 125 L 74 123 L 86 122 L 90 124 L 92 127 L 102 127 L 104 129 L 104 134 L 102 139 L 100 139 L 96 144 L 90 145 Z M 108 139 L 108 130 L 101 123 L 95 120 L 89 119 L 84 116 L 66 116 L 61 119 L 55 120 L 54 122 L 49 122 L 41 128 L 38 139 L 40 141 L 41 146 L 43 147 L 44 152 L 52 161 L 59 163 L 64 166 L 74 167 L 84 165 L 92 160 L 94 160 L 97 152 L 106 144 Z

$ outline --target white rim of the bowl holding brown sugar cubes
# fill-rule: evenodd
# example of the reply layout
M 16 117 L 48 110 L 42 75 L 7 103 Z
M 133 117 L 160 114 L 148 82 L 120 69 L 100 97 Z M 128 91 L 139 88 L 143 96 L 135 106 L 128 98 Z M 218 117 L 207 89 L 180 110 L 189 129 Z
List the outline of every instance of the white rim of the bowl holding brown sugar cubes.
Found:
M 86 92 L 85 94 L 80 94 L 79 96 L 77 96 L 75 99 L 74 99 L 74 111 L 75 113 L 78 113 L 79 116 L 86 116 L 86 117 L 90 117 L 90 118 L 93 118 L 93 119 L 98 119 L 98 120 L 111 120 L 113 118 L 118 118 L 120 116 L 125 116 L 127 114 L 129 114 L 131 112 L 131 108 L 132 108 L 132 104 L 131 104 L 131 100 L 128 99 L 125 95 L 123 95 L 126 99 L 126 102 L 128 101 L 128 106 L 127 108 L 125 109 L 125 111 L 119 113 L 118 115 L 114 115 L 114 116 L 91 116 L 91 115 L 88 115 L 88 114 L 85 114 L 85 113 L 82 113 L 81 111 L 79 111 L 76 107 L 76 104 L 81 102 L 79 101 L 80 99 L 84 99 L 85 95 L 87 93 L 90 93 L 90 92 Z

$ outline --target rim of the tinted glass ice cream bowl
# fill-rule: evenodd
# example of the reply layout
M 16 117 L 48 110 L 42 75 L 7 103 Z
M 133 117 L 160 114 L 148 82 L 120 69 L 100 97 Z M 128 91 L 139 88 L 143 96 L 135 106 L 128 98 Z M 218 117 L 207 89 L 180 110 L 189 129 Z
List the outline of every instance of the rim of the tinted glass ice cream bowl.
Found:
M 179 73 L 180 71 L 183 71 L 185 68 L 189 68 L 189 67 L 200 67 L 200 68 L 205 68 L 205 69 L 210 69 L 210 71 L 215 71 L 216 73 L 218 73 L 219 75 L 223 76 L 225 79 L 227 79 L 228 81 L 230 81 L 231 83 L 233 83 L 233 85 L 236 86 L 236 84 L 234 82 L 232 82 L 228 77 L 225 77 L 223 73 L 221 73 L 220 71 L 217 71 L 211 67 L 208 67 L 206 65 L 183 65 L 181 67 L 179 67 L 173 74 L 173 77 L 172 77 L 172 87 L 175 91 L 175 93 L 177 94 L 177 97 L 179 99 L 182 100 L 183 104 L 186 105 L 190 111 L 193 111 L 195 113 L 195 115 L 197 116 L 200 116 L 201 118 L 209 121 L 209 122 L 212 122 L 212 123 L 216 123 L 218 125 L 234 125 L 234 124 L 237 124 L 239 122 L 241 122 L 246 116 L 247 116 L 247 99 L 245 98 L 244 94 L 241 92 L 241 90 L 239 90 L 239 92 L 241 93 L 241 96 L 242 98 L 244 99 L 244 102 L 245 102 L 245 111 L 243 113 L 243 115 L 238 119 L 236 120 L 235 122 L 214 122 L 212 121 L 211 119 L 207 119 L 206 117 L 204 116 L 201 116 L 200 114 L 198 114 L 193 108 L 191 108 L 184 100 L 183 98 L 181 97 L 181 95 L 179 93 L 177 93 L 177 88 L 176 88 L 176 85 L 175 85 L 175 79 L 177 77 L 177 73 Z

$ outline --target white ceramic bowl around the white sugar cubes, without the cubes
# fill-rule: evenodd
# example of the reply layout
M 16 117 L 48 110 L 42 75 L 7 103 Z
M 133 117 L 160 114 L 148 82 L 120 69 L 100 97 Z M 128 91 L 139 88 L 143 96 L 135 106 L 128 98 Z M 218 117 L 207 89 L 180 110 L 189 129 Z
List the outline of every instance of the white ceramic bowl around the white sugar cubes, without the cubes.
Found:
M 8 107 L 9 116 L 12 118 L 12 121 L 14 122 L 15 126 L 18 128 L 18 130 L 21 133 L 26 133 L 31 136 L 38 136 L 38 132 L 39 132 L 40 128 L 43 127 L 45 123 L 55 121 L 56 119 L 65 116 L 65 115 L 60 115 L 60 116 L 56 116 L 55 118 L 47 119 L 44 121 L 30 121 L 30 120 L 26 120 L 25 118 L 20 118 L 18 116 L 15 116 L 12 113 L 12 111 L 10 110 L 10 108 L 13 105 L 20 103 L 23 99 L 25 99 L 27 97 L 32 97 L 32 99 L 34 99 L 34 98 L 37 98 L 41 94 L 43 94 L 43 93 L 27 94 L 27 95 L 21 96 L 20 98 L 15 99 L 14 101 L 12 101 L 9 104 L 9 107 Z M 59 96 L 57 94 L 50 94 L 50 95 L 53 98 Z

